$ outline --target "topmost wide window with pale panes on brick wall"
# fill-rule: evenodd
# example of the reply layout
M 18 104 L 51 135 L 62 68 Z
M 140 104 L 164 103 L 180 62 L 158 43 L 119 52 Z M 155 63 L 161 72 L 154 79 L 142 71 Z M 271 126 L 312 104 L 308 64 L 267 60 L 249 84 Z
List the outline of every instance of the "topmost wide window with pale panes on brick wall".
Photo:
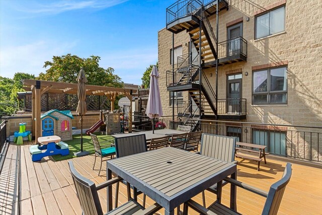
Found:
M 255 39 L 285 31 L 285 6 L 255 17 Z

